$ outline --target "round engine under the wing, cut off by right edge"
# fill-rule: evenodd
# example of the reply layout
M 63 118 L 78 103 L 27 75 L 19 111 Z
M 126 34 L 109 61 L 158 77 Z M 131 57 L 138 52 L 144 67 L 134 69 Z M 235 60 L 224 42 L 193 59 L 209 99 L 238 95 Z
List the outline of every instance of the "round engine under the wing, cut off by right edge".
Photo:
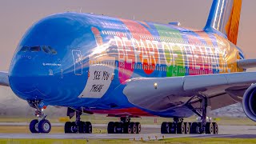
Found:
M 256 122 L 256 84 L 250 86 L 243 95 L 242 108 L 247 117 Z

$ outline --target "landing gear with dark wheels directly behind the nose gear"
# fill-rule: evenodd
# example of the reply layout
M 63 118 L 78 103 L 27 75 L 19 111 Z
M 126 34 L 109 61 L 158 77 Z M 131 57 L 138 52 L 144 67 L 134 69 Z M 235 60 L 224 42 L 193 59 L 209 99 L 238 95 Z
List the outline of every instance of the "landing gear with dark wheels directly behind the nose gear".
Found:
M 70 109 L 70 108 L 69 108 Z M 81 121 L 80 111 L 75 111 L 76 120 L 75 122 L 66 122 L 64 126 L 65 133 L 80 133 L 80 134 L 91 134 L 93 127 L 90 122 L 82 122 Z

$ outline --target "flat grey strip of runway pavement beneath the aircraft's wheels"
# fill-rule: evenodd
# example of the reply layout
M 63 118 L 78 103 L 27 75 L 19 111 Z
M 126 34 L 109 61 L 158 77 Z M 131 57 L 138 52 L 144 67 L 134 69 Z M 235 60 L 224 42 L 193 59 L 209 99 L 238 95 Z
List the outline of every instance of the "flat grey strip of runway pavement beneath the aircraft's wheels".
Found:
M 162 139 L 162 138 L 256 138 L 256 134 L 0 134 L 8 139 Z

